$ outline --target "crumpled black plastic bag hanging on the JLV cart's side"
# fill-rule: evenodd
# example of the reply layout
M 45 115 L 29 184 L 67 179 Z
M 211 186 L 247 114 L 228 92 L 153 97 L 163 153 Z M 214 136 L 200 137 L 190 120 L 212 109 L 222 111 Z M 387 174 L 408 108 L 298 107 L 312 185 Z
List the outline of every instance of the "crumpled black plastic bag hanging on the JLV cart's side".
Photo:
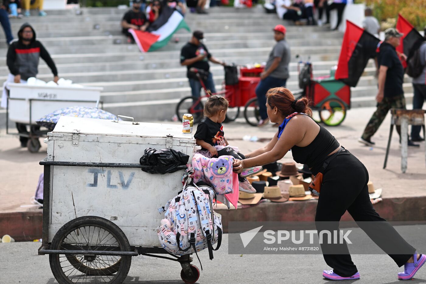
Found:
M 189 156 L 173 149 L 146 148 L 139 162 L 142 171 L 150 174 L 167 174 L 187 168 Z

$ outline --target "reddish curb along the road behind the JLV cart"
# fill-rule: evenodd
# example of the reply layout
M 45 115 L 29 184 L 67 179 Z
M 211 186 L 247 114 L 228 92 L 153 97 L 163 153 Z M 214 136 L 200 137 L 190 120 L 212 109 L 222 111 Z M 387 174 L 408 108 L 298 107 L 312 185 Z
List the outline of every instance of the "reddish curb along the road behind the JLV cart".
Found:
M 261 203 L 239 210 L 218 209 L 222 215 L 224 233 L 228 232 L 229 221 L 314 221 L 317 200 L 287 201 L 285 203 Z M 388 221 L 426 220 L 426 196 L 383 198 L 374 204 L 374 209 Z M 342 221 L 352 221 L 348 212 Z M 33 241 L 42 238 L 42 210 L 31 212 L 0 213 L 0 237 L 8 234 L 15 241 Z

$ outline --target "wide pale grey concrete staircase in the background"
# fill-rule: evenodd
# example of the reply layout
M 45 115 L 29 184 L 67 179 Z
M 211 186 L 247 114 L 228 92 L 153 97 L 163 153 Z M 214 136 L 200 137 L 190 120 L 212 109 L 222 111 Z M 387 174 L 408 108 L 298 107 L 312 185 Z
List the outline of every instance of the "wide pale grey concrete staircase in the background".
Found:
M 186 68 L 179 64 L 181 47 L 190 33 L 181 30 L 174 40 L 155 52 L 141 53 L 136 45 L 126 43 L 119 22 L 125 10 L 114 8 L 49 11 L 47 17 L 32 16 L 12 19 L 12 32 L 29 21 L 35 28 L 37 39 L 48 49 L 58 67 L 60 77 L 72 79 L 87 86 L 104 87 L 104 109 L 115 114 L 133 116 L 137 120 L 169 120 L 180 98 L 190 94 Z M 205 32 L 210 52 L 221 60 L 236 64 L 265 62 L 274 44 L 272 27 L 282 20 L 275 14 L 265 14 L 253 8 L 236 11 L 233 8 L 210 9 L 209 15 L 188 13 L 185 17 L 191 30 Z M 314 75 L 328 75 L 340 53 L 343 35 L 328 28 L 313 26 L 287 27 L 287 40 L 291 46 L 291 77 L 287 87 L 297 90 L 296 54 L 307 59 L 311 56 Z M 0 82 L 8 74 L 6 44 L 0 33 Z M 212 64 L 217 88 L 223 81 L 223 67 Z M 358 86 L 352 88 L 352 107 L 375 105 L 377 81 L 375 67 L 369 62 Z M 52 79 L 44 61 L 40 61 L 38 78 Z M 411 101 L 409 78 L 404 84 L 406 97 Z

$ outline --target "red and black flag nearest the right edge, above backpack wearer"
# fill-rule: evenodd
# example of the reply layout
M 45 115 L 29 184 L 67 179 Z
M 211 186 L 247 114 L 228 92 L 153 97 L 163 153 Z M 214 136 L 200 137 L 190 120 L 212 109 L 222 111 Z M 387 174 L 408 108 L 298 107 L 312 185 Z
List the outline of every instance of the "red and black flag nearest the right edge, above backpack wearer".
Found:
M 417 41 L 423 41 L 422 35 L 414 29 L 413 25 L 407 21 L 403 16 L 398 14 L 397 20 L 397 30 L 404 35 L 402 36 L 402 41 L 399 46 L 397 46 L 396 50 L 399 53 L 404 53 L 408 57 L 410 57 L 410 51 L 414 46 L 414 43 Z M 407 67 L 407 63 L 405 60 L 401 60 L 404 68 Z

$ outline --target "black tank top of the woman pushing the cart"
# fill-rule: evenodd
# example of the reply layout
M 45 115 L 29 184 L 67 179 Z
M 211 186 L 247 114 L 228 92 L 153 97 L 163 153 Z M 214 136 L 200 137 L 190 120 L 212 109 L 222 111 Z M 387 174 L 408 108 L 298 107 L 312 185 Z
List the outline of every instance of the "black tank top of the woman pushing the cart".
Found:
M 316 175 L 327 156 L 339 147 L 339 142 L 320 125 L 317 137 L 306 147 L 294 145 L 291 148 L 293 159 L 300 164 L 307 164 L 312 174 Z

